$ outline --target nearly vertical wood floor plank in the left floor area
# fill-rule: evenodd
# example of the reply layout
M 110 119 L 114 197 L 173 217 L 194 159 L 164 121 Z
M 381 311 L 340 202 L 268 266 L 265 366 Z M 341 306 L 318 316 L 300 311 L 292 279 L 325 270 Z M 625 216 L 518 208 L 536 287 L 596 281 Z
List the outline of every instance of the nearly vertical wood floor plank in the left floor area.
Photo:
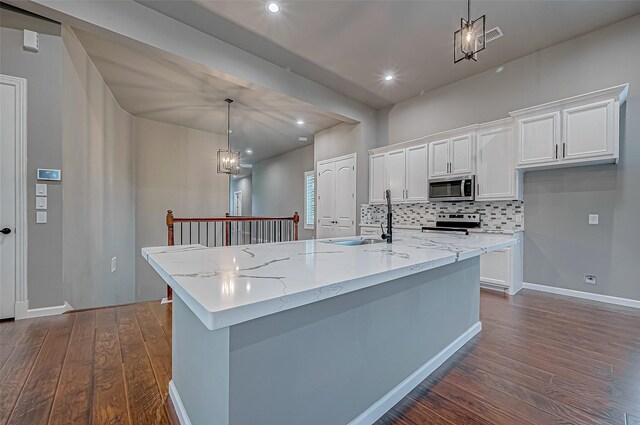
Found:
M 91 424 L 129 424 L 115 309 L 96 311 Z

